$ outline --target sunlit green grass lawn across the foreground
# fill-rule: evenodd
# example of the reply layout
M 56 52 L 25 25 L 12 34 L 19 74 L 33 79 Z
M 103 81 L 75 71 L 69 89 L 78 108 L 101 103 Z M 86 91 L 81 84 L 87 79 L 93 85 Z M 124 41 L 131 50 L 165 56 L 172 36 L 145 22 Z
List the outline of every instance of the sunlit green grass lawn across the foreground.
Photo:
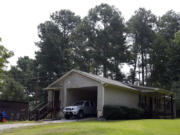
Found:
M 180 135 L 180 119 L 48 124 L 12 129 L 1 135 Z

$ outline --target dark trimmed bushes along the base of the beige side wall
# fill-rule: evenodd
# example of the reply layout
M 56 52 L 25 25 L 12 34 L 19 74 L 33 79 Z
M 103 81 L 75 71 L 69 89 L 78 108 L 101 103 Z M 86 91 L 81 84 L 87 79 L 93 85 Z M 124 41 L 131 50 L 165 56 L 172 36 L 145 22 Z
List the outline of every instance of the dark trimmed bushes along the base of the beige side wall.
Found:
M 144 111 L 125 106 L 104 106 L 103 117 L 107 120 L 140 119 L 144 117 Z

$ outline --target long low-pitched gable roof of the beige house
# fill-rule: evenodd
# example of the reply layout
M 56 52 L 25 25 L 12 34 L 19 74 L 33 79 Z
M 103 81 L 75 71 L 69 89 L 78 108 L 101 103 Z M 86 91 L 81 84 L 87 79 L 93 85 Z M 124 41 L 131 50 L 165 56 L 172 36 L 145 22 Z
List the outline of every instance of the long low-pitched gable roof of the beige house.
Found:
M 85 76 L 87 78 L 90 78 L 90 79 L 92 79 L 94 81 L 97 81 L 97 82 L 99 82 L 101 84 L 107 84 L 107 85 L 123 87 L 123 88 L 133 90 L 133 91 L 137 91 L 137 92 L 139 91 L 139 92 L 158 92 L 158 93 L 162 93 L 162 94 L 173 94 L 173 95 L 175 94 L 172 91 L 168 91 L 168 90 L 164 90 L 164 89 L 160 89 L 160 88 L 124 84 L 124 83 L 119 82 L 119 81 L 115 81 L 115 80 L 112 80 L 112 79 L 108 79 L 108 78 L 105 78 L 105 77 L 101 77 L 101 76 L 98 76 L 98 75 L 94 75 L 94 74 L 91 74 L 91 73 L 87 73 L 87 72 L 83 72 L 83 71 L 75 70 L 75 69 L 70 70 L 69 72 L 64 74 L 61 78 L 57 79 L 56 81 L 54 81 L 53 83 L 48 85 L 48 87 L 46 87 L 45 90 L 56 89 L 55 87 L 53 87 L 53 85 L 55 85 L 58 82 L 64 80 L 71 73 L 80 74 L 80 75 Z

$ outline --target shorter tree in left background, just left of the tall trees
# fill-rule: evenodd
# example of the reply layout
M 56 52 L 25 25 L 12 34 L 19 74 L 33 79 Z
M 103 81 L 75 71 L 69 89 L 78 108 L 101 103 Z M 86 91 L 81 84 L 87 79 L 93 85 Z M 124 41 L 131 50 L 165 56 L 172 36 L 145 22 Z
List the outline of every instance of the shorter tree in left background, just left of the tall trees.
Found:
M 8 75 L 24 87 L 24 93 L 27 97 L 34 97 L 38 78 L 33 59 L 28 56 L 18 58 L 17 65 L 11 67 Z

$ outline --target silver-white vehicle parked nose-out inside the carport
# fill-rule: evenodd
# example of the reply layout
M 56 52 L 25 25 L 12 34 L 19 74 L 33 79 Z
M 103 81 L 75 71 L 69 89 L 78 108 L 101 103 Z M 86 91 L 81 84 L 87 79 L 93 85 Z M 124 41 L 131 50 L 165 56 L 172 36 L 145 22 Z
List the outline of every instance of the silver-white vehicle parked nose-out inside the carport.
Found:
M 65 107 L 63 113 L 66 119 L 72 116 L 83 118 L 87 115 L 96 115 L 96 104 L 89 100 L 78 101 L 72 106 Z

